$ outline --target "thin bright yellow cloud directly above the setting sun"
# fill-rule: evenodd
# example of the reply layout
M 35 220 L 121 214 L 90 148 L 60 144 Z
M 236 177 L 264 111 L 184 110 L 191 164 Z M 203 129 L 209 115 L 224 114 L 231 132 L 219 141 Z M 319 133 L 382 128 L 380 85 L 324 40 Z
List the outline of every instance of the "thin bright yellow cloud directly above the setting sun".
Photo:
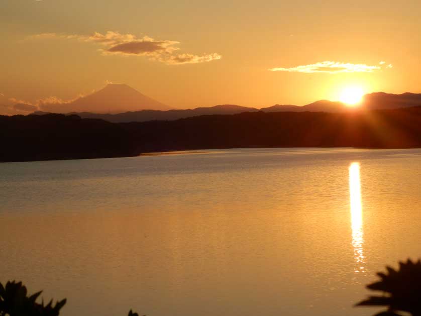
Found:
M 302 73 L 344 73 L 344 72 L 374 72 L 380 70 L 380 66 L 369 66 L 366 64 L 351 64 L 336 61 L 323 61 L 311 65 L 302 65 L 291 68 L 270 68 L 270 71 L 287 71 Z

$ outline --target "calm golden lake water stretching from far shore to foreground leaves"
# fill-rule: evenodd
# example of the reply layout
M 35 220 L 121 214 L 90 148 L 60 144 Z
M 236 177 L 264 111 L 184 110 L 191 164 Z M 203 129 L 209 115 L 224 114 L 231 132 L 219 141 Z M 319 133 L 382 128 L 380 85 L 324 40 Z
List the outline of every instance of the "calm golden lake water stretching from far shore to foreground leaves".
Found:
M 418 149 L 3 163 L 0 280 L 64 316 L 370 315 L 364 284 L 421 255 L 420 180 Z

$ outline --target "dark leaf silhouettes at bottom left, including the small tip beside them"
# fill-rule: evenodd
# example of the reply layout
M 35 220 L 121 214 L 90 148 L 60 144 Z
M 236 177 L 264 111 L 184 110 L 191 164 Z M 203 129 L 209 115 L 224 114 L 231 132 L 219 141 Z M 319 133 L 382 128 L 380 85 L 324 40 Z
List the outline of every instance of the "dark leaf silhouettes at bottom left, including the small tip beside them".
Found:
M 28 296 L 28 290 L 22 282 L 7 282 L 6 286 L 0 282 L 0 316 L 58 316 L 66 299 L 57 301 L 54 305 L 53 300 L 50 300 L 44 305 L 44 301 L 41 304 L 36 302 L 41 293 L 39 291 Z M 139 314 L 130 310 L 129 316 Z

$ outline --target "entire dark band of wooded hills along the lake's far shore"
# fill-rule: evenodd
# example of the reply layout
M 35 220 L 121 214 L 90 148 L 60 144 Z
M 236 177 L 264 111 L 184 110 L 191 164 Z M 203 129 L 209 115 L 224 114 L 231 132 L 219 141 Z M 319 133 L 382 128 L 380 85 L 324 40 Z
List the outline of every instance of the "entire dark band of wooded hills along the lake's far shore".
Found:
M 421 147 L 421 107 L 344 113 L 208 115 L 110 123 L 78 116 L 0 116 L 0 161 L 136 156 L 246 147 Z

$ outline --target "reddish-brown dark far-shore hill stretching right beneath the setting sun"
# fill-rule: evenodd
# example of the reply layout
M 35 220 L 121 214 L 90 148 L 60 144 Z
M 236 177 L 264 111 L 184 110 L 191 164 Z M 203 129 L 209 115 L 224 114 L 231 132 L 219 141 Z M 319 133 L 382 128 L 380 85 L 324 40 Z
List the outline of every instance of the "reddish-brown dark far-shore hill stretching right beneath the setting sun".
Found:
M 421 107 L 279 112 L 128 123 L 143 152 L 247 147 L 421 147 Z M 145 142 L 144 140 L 147 140 Z

